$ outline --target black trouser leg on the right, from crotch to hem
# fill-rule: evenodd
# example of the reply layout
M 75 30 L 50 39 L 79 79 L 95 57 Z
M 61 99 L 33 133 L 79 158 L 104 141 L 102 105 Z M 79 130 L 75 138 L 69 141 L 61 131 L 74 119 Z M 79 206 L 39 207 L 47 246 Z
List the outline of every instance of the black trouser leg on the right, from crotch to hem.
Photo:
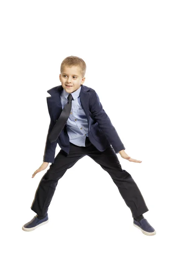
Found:
M 110 147 L 100 152 L 97 149 L 95 150 L 94 147 L 94 149 L 88 153 L 88 156 L 111 176 L 126 205 L 130 208 L 133 217 L 142 215 L 149 210 L 132 176 L 122 169 L 113 148 Z

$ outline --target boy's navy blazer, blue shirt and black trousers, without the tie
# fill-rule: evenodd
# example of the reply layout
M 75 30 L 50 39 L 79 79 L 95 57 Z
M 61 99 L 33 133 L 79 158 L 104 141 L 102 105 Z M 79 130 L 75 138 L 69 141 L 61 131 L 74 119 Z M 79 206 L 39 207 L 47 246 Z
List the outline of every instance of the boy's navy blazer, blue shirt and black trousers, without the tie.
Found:
M 85 155 L 91 157 L 111 176 L 132 216 L 147 212 L 144 198 L 132 176 L 123 170 L 116 154 L 125 149 L 116 129 L 102 108 L 96 91 L 85 85 L 71 93 L 73 96 L 69 118 L 56 141 L 48 135 L 56 124 L 62 109 L 68 103 L 68 95 L 62 85 L 47 91 L 50 125 L 45 143 L 43 161 L 51 163 L 40 180 L 31 209 L 45 216 L 54 195 L 58 180 L 67 169 Z M 61 150 L 55 157 L 57 143 Z M 88 167 L 88 166 L 87 166 Z

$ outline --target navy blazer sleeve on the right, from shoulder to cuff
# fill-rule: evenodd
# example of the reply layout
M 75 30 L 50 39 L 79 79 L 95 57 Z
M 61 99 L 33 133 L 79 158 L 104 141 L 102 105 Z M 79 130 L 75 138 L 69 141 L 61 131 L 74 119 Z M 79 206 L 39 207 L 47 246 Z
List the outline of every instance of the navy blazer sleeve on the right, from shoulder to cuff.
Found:
M 105 134 L 108 141 L 111 143 L 115 153 L 119 153 L 121 150 L 125 150 L 125 146 L 123 145 L 122 141 L 117 134 L 116 129 L 111 123 L 110 118 L 104 111 L 102 104 L 99 100 L 99 96 L 97 95 L 96 91 L 91 94 L 89 99 L 89 110 L 91 111 L 94 119 L 99 124 L 99 128 Z

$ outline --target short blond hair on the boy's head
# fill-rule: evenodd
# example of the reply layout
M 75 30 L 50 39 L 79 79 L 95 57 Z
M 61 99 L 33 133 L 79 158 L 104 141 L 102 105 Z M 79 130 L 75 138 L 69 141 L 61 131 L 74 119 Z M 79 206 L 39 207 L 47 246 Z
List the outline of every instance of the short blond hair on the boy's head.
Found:
M 86 64 L 85 61 L 82 60 L 82 58 L 79 58 L 77 56 L 68 56 L 66 57 L 61 64 L 60 67 L 60 73 L 62 73 L 63 67 L 67 66 L 67 67 L 72 67 L 72 66 L 79 66 L 81 73 L 82 73 L 82 77 L 85 77 L 85 72 L 86 72 Z

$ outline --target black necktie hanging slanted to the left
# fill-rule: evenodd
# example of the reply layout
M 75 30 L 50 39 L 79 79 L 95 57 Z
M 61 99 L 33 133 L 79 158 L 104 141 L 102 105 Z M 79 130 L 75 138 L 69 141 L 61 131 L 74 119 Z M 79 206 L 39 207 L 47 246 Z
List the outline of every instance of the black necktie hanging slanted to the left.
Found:
M 61 133 L 62 129 L 64 128 L 68 117 L 70 115 L 71 111 L 71 105 L 72 105 L 73 96 L 71 94 L 68 95 L 68 102 L 65 104 L 59 119 L 55 123 L 51 133 L 48 136 L 48 140 L 52 143 L 59 137 L 59 134 Z

